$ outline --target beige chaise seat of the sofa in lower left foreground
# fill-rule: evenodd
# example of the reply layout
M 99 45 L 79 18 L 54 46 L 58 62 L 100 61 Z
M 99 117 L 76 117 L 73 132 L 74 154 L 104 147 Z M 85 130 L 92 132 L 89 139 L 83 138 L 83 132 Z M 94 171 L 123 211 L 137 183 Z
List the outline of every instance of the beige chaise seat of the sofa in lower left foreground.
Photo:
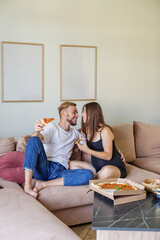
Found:
M 0 180 L 0 239 L 80 240 L 36 199 L 19 186 Z

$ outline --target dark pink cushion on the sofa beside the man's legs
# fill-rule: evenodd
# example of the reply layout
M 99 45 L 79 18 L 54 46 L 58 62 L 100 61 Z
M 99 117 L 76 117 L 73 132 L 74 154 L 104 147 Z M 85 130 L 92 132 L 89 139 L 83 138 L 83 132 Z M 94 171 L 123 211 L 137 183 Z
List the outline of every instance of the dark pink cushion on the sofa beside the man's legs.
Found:
M 19 184 L 24 183 L 24 153 L 21 152 L 8 152 L 0 157 L 0 177 L 16 182 Z

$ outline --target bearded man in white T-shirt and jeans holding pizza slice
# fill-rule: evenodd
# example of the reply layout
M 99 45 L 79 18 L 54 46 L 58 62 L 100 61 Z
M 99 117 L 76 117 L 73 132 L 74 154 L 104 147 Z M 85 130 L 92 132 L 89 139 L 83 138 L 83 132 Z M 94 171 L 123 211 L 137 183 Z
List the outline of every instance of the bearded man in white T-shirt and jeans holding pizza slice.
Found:
M 89 169 L 68 169 L 69 158 L 75 142 L 82 136 L 75 126 L 78 119 L 76 104 L 64 102 L 59 108 L 60 122 L 49 123 L 43 126 L 41 121 L 35 123 L 35 132 L 28 140 L 25 161 L 24 191 L 33 197 L 48 186 L 86 185 L 94 178 L 93 171 Z M 73 166 L 73 168 L 76 168 Z M 87 168 L 87 164 L 85 165 Z M 37 180 L 34 188 L 31 187 L 32 177 Z

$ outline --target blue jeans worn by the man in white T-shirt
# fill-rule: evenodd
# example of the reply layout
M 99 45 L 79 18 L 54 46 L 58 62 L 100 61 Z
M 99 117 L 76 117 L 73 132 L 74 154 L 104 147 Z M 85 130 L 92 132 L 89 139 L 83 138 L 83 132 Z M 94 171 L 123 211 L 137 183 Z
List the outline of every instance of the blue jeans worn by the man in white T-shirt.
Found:
M 37 180 L 48 181 L 62 177 L 64 186 L 87 185 L 94 177 L 89 169 L 68 170 L 58 162 L 48 161 L 38 137 L 31 137 L 27 142 L 23 169 L 32 170 Z

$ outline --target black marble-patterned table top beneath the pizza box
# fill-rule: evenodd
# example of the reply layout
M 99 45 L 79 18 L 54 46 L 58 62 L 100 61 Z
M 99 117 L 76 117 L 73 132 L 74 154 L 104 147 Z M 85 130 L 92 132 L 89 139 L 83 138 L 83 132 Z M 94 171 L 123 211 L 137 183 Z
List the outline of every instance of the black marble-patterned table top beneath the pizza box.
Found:
M 95 192 L 92 229 L 160 231 L 160 200 L 148 193 L 145 200 L 114 205 Z

